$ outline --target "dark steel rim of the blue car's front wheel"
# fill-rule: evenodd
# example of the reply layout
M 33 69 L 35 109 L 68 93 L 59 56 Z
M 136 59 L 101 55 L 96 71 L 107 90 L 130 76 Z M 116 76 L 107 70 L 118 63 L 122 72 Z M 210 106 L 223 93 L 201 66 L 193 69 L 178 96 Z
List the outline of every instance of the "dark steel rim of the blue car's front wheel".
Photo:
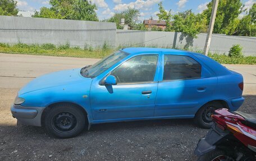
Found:
M 52 118 L 52 127 L 61 134 L 69 134 L 77 127 L 77 119 L 71 112 L 60 112 Z

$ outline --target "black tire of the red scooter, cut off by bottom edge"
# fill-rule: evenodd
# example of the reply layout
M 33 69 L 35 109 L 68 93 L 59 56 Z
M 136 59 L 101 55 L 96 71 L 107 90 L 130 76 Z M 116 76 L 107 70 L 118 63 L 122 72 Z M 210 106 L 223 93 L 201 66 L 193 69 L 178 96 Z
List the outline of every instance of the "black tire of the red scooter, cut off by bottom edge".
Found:
M 232 161 L 234 158 L 228 156 L 224 150 L 216 149 L 198 158 L 198 161 Z

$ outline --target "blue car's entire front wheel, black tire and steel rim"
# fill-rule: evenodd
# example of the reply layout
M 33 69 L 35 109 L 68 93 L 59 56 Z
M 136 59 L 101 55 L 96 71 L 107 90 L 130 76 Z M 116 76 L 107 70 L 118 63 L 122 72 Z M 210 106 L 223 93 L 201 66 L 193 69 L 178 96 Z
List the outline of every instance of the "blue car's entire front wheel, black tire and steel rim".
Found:
M 85 114 L 75 105 L 58 104 L 51 108 L 44 118 L 48 134 L 59 138 L 74 137 L 83 131 L 86 125 Z

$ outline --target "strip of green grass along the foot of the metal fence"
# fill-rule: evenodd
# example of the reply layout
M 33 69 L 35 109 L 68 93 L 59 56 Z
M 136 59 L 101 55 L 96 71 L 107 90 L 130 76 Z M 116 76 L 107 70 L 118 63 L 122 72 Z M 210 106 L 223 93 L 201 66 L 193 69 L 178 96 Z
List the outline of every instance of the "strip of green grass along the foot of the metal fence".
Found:
M 23 44 L 18 43 L 15 45 L 9 45 L 0 43 L 1 53 L 10 54 L 31 54 L 40 56 L 62 56 L 62 57 L 80 57 L 80 58 L 103 58 L 108 56 L 114 51 L 104 44 L 101 49 L 93 49 L 92 47 L 70 47 L 69 44 L 56 46 L 53 44 Z M 198 53 L 202 51 L 196 51 Z M 256 57 L 241 57 L 232 58 L 221 54 L 209 54 L 209 57 L 222 64 L 244 64 L 244 65 L 256 65 Z

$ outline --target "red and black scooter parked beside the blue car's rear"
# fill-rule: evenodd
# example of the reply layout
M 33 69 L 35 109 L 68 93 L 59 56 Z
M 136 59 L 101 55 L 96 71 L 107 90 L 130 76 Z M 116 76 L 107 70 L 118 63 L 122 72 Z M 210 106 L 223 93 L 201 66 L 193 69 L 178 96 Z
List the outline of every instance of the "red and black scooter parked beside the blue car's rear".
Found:
M 256 160 L 256 114 L 215 112 L 211 130 L 195 148 L 198 160 Z

